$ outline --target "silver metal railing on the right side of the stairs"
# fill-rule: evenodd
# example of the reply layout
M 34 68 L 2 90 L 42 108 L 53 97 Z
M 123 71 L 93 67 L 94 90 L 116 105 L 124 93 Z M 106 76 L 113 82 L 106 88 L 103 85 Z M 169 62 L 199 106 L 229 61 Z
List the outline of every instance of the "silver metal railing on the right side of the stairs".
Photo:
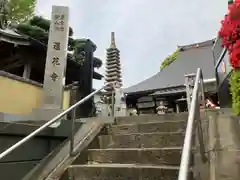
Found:
M 192 138 L 193 138 L 193 132 L 195 130 L 195 125 L 197 126 L 196 128 L 198 131 L 201 159 L 204 163 L 207 161 L 207 157 L 205 155 L 203 133 L 202 133 L 202 123 L 200 118 L 201 103 L 205 106 L 204 82 L 203 82 L 202 70 L 198 68 L 197 74 L 186 75 L 185 78 L 186 78 L 186 91 L 187 91 L 189 115 L 188 115 L 186 134 L 185 134 L 184 145 L 182 150 L 178 180 L 188 180 L 190 161 L 191 161 Z

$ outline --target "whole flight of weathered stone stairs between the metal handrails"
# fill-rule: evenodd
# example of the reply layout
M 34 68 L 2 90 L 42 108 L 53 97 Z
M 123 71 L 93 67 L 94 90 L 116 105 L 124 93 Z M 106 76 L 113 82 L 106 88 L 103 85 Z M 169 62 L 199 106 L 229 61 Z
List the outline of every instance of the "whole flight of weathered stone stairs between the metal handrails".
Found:
M 97 137 L 97 148 L 82 152 L 61 179 L 176 180 L 186 116 L 169 117 L 117 119 Z

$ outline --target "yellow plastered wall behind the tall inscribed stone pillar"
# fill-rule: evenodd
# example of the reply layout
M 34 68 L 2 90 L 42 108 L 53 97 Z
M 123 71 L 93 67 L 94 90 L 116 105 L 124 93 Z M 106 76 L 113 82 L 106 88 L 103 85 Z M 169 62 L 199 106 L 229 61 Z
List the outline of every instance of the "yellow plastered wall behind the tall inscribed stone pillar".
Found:
M 0 112 L 25 115 L 41 103 L 42 85 L 0 71 Z M 64 91 L 63 108 L 70 104 L 70 90 Z

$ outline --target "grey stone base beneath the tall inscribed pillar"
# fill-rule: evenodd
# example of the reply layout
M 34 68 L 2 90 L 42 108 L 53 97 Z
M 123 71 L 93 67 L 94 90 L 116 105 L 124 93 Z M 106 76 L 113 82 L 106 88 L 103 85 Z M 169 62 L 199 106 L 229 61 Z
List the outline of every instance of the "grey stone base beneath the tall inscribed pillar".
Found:
M 32 119 L 34 121 L 50 121 L 52 118 L 54 118 L 61 112 L 63 112 L 62 109 L 47 109 L 47 108 L 33 109 Z M 63 119 L 66 119 L 66 117 L 63 117 L 56 123 L 52 124 L 50 127 L 52 127 L 52 128 L 58 127 L 61 124 L 61 121 Z

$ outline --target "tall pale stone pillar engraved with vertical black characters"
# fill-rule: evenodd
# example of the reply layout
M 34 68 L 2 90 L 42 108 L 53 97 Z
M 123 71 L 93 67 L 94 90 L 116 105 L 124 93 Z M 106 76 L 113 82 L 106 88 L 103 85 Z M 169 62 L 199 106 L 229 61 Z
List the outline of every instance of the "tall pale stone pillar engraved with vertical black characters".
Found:
M 53 6 L 41 108 L 37 120 L 50 120 L 62 111 L 67 62 L 69 9 Z

